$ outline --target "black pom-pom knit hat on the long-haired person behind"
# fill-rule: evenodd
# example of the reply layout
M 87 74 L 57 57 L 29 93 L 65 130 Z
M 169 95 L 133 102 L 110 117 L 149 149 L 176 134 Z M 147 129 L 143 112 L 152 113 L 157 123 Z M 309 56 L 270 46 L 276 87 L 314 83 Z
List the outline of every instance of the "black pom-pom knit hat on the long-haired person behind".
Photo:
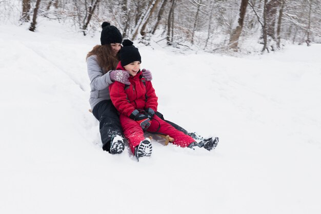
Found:
M 115 26 L 110 25 L 109 22 L 103 22 L 102 28 L 103 28 L 102 34 L 101 34 L 102 45 L 111 44 L 111 43 L 122 43 L 123 36 Z

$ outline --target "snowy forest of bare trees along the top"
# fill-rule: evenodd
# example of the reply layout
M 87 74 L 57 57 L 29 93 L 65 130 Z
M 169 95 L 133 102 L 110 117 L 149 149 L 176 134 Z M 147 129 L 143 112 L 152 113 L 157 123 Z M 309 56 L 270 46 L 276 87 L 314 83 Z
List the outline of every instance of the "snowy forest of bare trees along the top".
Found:
M 124 38 L 179 51 L 262 53 L 321 43 L 321 0 L 0 0 L 0 23 L 56 20 L 85 36 L 104 21 Z

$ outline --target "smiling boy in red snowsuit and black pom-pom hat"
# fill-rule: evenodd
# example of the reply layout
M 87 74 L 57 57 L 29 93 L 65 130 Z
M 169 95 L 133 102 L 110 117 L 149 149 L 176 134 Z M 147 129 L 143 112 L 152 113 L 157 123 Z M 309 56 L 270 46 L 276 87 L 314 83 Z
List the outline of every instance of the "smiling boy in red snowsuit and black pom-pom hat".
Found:
M 178 131 L 155 115 L 158 105 L 157 96 L 152 83 L 145 81 L 142 75 L 141 55 L 133 43 L 124 40 L 119 54 L 121 61 L 116 69 L 127 70 L 131 84 L 125 85 L 121 82 L 111 84 L 110 98 L 120 114 L 123 132 L 137 160 L 143 156 L 150 156 L 152 151 L 150 139 L 144 137 L 144 130 L 170 135 L 174 139 L 173 144 L 180 147 L 195 144 L 195 140 L 189 135 Z

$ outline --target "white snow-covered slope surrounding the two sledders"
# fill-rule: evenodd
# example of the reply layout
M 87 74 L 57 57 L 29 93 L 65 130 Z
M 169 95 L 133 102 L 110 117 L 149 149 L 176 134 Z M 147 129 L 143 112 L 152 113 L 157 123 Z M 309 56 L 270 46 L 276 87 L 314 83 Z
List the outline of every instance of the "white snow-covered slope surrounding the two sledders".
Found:
M 0 213 L 321 213 L 321 45 L 259 56 L 140 47 L 165 118 L 220 142 L 101 149 L 84 37 L 0 26 Z

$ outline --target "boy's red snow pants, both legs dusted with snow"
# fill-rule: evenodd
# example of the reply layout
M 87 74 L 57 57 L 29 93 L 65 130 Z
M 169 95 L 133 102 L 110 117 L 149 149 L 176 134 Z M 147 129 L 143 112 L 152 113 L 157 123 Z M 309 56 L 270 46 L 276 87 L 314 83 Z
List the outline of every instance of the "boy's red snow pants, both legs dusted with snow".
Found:
M 119 120 L 121 120 L 121 125 L 123 128 L 125 138 L 128 140 L 130 149 L 134 154 L 135 147 L 138 146 L 139 143 L 141 143 L 141 141 L 145 139 L 144 131 L 136 121 L 130 119 L 128 116 L 121 114 L 119 115 Z M 160 119 L 157 115 L 153 116 L 151 120 L 151 125 L 146 131 L 148 132 L 157 131 L 157 133 L 170 135 L 170 137 L 174 139 L 173 144 L 180 147 L 187 147 L 188 145 L 190 145 L 192 142 L 195 141 L 189 135 L 184 134 L 182 131 L 178 131 L 173 126 L 171 126 L 170 124 Z

